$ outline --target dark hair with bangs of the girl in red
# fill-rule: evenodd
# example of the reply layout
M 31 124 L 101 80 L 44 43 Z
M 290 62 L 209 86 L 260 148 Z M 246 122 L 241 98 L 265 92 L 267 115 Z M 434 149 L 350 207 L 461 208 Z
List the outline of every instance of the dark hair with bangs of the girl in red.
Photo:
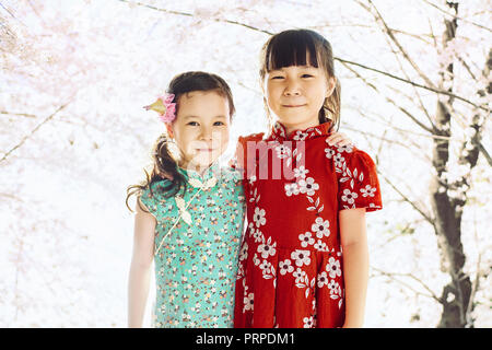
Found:
M 263 45 L 260 56 L 260 78 L 271 70 L 289 66 L 305 66 L 309 54 L 309 65 L 325 69 L 328 78 L 336 78 L 333 51 L 330 43 L 320 34 L 309 30 L 290 30 L 271 36 Z M 331 128 L 340 125 L 340 93 L 338 79 L 332 94 L 325 100 L 319 110 L 319 124 L 331 121 Z M 268 112 L 268 106 L 266 106 Z M 268 113 L 269 122 L 271 117 Z

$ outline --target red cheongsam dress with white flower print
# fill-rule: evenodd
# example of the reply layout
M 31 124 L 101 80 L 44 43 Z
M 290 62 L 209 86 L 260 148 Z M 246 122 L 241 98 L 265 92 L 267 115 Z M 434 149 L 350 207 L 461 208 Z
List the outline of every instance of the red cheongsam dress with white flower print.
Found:
M 331 147 L 330 124 L 239 138 L 248 225 L 239 252 L 235 327 L 341 327 L 338 212 L 382 209 L 373 160 Z M 249 150 L 248 150 L 249 148 Z

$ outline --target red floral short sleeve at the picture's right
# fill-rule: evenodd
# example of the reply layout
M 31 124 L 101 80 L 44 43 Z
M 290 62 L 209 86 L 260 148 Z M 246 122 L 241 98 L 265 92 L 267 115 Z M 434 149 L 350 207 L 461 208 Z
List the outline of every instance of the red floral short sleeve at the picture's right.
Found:
M 338 210 L 383 209 L 376 165 L 371 156 L 355 148 L 339 149 L 333 154 L 338 177 Z

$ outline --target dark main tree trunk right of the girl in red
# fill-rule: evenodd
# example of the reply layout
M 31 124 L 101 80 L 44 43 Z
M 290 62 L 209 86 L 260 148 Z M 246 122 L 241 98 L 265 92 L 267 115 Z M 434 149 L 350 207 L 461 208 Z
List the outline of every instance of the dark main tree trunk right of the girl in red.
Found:
M 458 3 L 447 2 L 447 5 L 457 14 Z M 443 47 L 456 36 L 457 19 L 445 20 L 446 30 L 443 35 Z M 441 89 L 453 91 L 453 62 L 443 68 L 441 72 Z M 449 171 L 449 137 L 453 100 L 448 103 L 437 102 L 435 115 L 436 136 L 433 145 L 432 165 L 435 176 L 431 182 L 431 203 L 435 217 L 435 233 L 441 256 L 443 271 L 449 273 L 450 282 L 444 287 L 441 296 L 443 313 L 438 327 L 465 327 L 468 323 L 469 301 L 471 295 L 471 281 L 462 271 L 465 254 L 461 245 L 461 214 L 464 202 L 455 200 L 452 196 L 452 184 L 448 183 Z

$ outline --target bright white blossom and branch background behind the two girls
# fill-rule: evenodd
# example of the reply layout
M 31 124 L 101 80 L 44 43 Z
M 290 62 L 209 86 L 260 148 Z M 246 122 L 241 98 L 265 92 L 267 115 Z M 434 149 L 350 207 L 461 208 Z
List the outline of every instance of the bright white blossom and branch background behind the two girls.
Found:
M 378 166 L 365 326 L 491 327 L 491 4 L 0 0 L 0 326 L 126 327 L 126 188 L 164 129 L 142 106 L 210 71 L 234 137 L 263 131 L 259 50 L 302 27 L 331 43 L 340 131 Z

